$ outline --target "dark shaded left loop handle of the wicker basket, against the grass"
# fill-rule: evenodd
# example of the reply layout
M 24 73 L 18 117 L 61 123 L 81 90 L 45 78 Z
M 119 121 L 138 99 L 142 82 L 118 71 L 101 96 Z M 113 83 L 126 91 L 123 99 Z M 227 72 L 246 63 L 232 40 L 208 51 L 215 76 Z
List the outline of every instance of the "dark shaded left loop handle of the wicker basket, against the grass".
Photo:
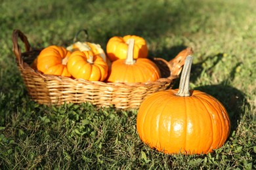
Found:
M 14 52 L 18 63 L 20 63 L 20 65 L 23 65 L 22 53 L 20 50 L 20 46 L 18 45 L 18 38 L 20 38 L 22 42 L 24 42 L 26 52 L 32 50 L 32 48 L 30 46 L 30 42 L 28 42 L 28 38 L 26 37 L 26 35 L 24 35 L 24 33 L 22 33 L 22 31 L 20 31 L 19 29 L 14 29 L 14 31 L 12 32 L 12 51 Z

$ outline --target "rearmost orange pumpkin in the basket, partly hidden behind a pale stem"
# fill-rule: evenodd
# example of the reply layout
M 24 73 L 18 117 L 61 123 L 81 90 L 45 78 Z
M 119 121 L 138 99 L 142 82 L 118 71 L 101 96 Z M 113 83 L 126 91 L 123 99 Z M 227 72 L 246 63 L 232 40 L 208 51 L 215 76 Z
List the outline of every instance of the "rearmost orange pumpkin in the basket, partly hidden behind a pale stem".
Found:
M 145 39 L 137 35 L 125 35 L 124 37 L 112 37 L 107 42 L 106 53 L 108 58 L 110 58 L 110 61 L 115 61 L 116 59 L 126 59 L 130 39 L 135 40 L 133 58 L 147 58 L 148 47 Z

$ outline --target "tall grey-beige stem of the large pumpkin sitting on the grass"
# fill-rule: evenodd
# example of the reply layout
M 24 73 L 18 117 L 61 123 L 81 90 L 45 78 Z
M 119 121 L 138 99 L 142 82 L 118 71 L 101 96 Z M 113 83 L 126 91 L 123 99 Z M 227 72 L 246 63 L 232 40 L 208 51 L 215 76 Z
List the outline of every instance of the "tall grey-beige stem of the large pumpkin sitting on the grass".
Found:
M 190 70 L 191 70 L 191 65 L 192 65 L 192 56 L 187 56 L 184 67 L 181 73 L 181 81 L 179 85 L 179 91 L 177 92 L 176 95 L 179 96 L 190 96 L 189 92 L 189 78 L 190 78 Z

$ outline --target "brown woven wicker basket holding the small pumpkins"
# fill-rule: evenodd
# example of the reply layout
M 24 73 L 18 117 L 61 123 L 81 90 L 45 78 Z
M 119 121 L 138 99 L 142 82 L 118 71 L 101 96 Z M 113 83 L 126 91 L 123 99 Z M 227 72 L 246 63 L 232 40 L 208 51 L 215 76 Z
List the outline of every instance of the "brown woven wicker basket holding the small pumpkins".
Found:
M 18 39 L 24 42 L 26 52 L 21 52 Z M 26 35 L 15 29 L 12 33 L 13 52 L 18 69 L 26 84 L 30 97 L 40 104 L 62 105 L 64 103 L 91 102 L 99 107 L 113 106 L 118 109 L 138 108 L 144 97 L 151 93 L 171 88 L 179 76 L 186 56 L 191 48 L 182 50 L 174 59 L 153 58 L 161 71 L 161 77 L 145 83 L 92 82 L 63 76 L 43 75 L 30 67 L 40 49 L 32 49 Z

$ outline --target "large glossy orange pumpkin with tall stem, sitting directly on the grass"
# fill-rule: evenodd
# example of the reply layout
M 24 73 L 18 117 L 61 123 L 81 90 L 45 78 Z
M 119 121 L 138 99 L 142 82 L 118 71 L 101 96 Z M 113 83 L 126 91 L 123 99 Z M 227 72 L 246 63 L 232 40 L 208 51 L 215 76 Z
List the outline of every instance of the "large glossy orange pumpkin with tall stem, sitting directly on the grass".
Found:
M 230 120 L 215 97 L 189 90 L 192 56 L 186 58 L 179 89 L 153 93 L 137 114 L 140 139 L 167 154 L 207 154 L 220 148 L 230 133 Z

